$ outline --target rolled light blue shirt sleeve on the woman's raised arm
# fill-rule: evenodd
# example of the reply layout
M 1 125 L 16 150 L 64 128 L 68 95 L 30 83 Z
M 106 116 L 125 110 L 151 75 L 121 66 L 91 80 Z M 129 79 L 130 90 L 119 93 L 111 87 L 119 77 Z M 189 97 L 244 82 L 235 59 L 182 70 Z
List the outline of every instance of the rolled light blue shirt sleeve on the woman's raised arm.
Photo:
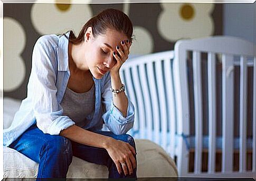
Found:
M 134 125 L 134 105 L 128 99 L 127 116 L 124 117 L 120 110 L 113 104 L 110 86 L 111 79 L 108 73 L 102 93 L 102 103 L 106 109 L 106 113 L 103 114 L 102 118 L 112 133 L 116 135 L 125 134 Z

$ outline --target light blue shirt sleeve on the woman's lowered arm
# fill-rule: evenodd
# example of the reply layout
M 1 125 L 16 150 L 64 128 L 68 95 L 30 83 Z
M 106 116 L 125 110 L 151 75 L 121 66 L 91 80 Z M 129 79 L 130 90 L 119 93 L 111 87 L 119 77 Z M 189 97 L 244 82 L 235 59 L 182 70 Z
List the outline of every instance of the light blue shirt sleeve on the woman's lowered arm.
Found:
M 59 135 L 61 130 L 75 124 L 62 115 L 63 109 L 56 96 L 56 67 L 54 48 L 46 38 L 39 38 L 33 49 L 28 89 L 32 93 L 37 127 L 51 135 Z

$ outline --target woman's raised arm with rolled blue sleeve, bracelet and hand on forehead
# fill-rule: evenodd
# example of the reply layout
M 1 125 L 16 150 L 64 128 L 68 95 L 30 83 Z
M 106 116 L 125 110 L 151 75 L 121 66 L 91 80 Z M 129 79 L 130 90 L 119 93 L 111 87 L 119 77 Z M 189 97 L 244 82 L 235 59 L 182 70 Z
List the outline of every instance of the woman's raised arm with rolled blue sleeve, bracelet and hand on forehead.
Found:
M 105 106 L 106 113 L 102 118 L 106 126 L 116 135 L 125 134 L 134 125 L 134 105 L 128 100 L 125 92 L 120 92 L 113 95 L 110 91 L 112 89 L 120 89 L 122 86 L 119 76 L 119 69 L 125 63 L 129 54 L 129 47 L 131 43 L 122 43 L 122 49 L 118 49 L 118 54 L 113 56 L 116 58 L 117 63 L 111 68 L 110 73 L 105 76 L 102 103 Z

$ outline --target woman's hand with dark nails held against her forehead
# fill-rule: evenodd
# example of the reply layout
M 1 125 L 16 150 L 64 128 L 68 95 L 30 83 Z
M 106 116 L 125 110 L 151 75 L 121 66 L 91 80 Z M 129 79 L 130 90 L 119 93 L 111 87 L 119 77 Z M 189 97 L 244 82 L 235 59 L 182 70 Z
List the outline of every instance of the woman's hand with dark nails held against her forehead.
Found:
M 113 52 L 113 57 L 116 58 L 117 63 L 111 68 L 110 74 L 119 74 L 120 67 L 125 63 L 130 53 L 131 42 L 128 39 L 121 41 L 120 44 L 121 47 L 117 45 L 116 51 Z

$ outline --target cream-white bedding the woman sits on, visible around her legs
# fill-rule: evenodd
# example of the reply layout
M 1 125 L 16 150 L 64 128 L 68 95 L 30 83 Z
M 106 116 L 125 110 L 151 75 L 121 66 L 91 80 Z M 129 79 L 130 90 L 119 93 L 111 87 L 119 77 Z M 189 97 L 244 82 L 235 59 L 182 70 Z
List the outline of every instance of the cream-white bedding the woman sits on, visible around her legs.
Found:
M 20 100 L 4 98 L 4 128 L 11 125 Z M 172 158 L 157 144 L 146 139 L 135 139 L 138 177 L 177 177 Z M 37 175 L 38 164 L 16 150 L 4 147 L 4 178 L 31 178 Z M 106 166 L 92 164 L 73 157 L 68 178 L 107 178 Z

